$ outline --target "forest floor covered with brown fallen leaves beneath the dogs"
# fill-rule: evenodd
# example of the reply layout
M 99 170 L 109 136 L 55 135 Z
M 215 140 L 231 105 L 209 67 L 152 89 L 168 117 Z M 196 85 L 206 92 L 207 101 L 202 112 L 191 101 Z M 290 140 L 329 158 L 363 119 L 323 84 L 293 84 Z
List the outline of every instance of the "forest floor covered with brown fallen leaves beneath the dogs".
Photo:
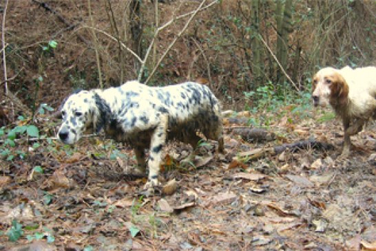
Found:
M 256 141 L 240 136 L 255 114 L 225 118 L 226 153 L 202 143 L 193 165 L 179 164 L 187 146 L 169 144 L 160 180 L 176 180 L 171 195 L 140 195 L 129 146 L 17 144 L 25 158 L 0 162 L 0 250 L 375 250 L 375 124 L 340 160 L 339 120 L 304 113 L 284 107 L 265 128 L 271 137 Z M 309 139 L 333 147 L 252 157 Z

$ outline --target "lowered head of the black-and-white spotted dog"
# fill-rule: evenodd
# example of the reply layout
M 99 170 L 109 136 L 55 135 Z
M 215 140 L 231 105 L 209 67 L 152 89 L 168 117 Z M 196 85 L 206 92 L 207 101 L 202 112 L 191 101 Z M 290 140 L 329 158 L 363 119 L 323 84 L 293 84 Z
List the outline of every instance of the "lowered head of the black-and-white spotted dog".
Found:
M 80 91 L 67 98 L 61 108 L 63 121 L 57 137 L 65 144 L 74 144 L 87 130 L 95 130 L 98 118 L 95 94 Z

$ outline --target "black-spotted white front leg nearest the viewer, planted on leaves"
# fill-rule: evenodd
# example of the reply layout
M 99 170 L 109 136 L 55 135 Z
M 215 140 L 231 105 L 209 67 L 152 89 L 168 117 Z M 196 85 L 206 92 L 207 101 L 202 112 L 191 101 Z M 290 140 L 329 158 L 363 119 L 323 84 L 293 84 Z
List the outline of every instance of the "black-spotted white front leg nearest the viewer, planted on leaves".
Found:
M 161 154 L 163 146 L 166 142 L 167 137 L 167 127 L 168 127 L 168 115 L 162 114 L 160 116 L 160 123 L 156 127 L 152 139 L 150 142 L 150 153 L 149 153 L 149 177 L 144 189 L 148 192 L 153 192 L 153 186 L 158 186 L 158 173 L 160 168 Z

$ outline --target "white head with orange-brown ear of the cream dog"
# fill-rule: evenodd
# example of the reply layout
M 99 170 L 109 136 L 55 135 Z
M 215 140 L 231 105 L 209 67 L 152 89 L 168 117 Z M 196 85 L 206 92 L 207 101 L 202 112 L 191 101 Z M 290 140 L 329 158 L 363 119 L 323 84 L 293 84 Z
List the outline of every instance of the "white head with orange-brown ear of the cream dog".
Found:
M 344 77 L 333 67 L 320 69 L 313 76 L 313 105 L 325 107 L 331 104 L 335 107 L 345 105 L 348 98 L 348 85 Z

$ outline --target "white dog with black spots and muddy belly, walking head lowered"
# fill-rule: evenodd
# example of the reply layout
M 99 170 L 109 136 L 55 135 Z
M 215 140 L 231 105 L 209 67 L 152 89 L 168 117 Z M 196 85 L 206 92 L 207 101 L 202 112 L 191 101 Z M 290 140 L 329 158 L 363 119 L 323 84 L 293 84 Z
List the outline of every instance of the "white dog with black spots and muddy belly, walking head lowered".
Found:
M 223 151 L 220 103 L 209 87 L 186 82 L 167 87 L 149 87 L 129 81 L 120 87 L 80 91 L 67 98 L 58 138 L 74 144 L 85 131 L 104 129 L 107 138 L 134 148 L 138 167 L 149 175 L 145 190 L 158 185 L 161 152 L 167 140 L 179 140 L 196 149 L 206 138 L 218 141 Z M 149 160 L 145 161 L 145 149 Z

